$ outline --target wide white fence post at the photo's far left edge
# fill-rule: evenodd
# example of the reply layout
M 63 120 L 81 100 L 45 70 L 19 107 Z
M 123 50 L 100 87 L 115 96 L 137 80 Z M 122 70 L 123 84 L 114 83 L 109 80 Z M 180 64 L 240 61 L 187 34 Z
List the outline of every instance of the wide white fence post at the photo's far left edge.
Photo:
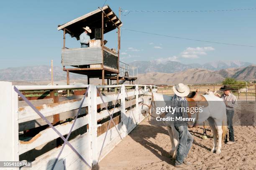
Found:
M 0 81 L 2 89 L 0 97 L 0 160 L 19 160 L 19 135 L 18 135 L 18 94 L 14 91 L 11 82 Z

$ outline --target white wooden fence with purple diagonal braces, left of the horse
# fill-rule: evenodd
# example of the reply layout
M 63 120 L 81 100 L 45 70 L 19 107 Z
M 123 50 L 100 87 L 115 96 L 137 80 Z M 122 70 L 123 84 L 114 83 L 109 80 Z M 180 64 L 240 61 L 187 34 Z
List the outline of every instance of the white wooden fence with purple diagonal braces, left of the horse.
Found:
M 4 120 L 0 124 L 0 160 L 32 161 L 35 170 L 91 169 L 143 120 L 144 90 L 157 91 L 156 86 L 148 85 L 13 86 L 11 82 L 0 82 L 0 86 L 0 112 Z M 101 92 L 100 88 L 118 90 Z M 51 93 L 51 99 L 39 97 L 29 101 L 22 94 L 37 90 L 58 93 L 60 89 L 79 89 L 85 94 Z M 25 101 L 20 100 L 18 92 Z M 65 144 L 68 146 L 64 147 Z

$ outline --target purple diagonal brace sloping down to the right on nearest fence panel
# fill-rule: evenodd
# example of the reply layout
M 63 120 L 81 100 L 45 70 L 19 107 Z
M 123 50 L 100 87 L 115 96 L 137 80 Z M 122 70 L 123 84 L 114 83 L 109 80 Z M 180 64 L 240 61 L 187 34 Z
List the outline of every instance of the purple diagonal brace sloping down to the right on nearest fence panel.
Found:
M 36 107 L 17 89 L 17 87 L 13 87 L 14 91 L 18 93 L 18 95 L 59 135 L 59 137 L 65 142 L 67 143 L 67 145 L 74 151 L 74 153 L 77 154 L 77 156 L 90 168 L 92 168 L 92 166 L 90 166 L 86 160 L 84 160 L 84 158 L 82 157 L 82 155 L 80 155 L 77 150 L 69 143 L 69 141 L 67 141 L 63 135 L 61 135 L 61 133 L 51 124 L 51 122 L 49 122 L 49 120 L 46 119 L 46 117 L 39 112 Z

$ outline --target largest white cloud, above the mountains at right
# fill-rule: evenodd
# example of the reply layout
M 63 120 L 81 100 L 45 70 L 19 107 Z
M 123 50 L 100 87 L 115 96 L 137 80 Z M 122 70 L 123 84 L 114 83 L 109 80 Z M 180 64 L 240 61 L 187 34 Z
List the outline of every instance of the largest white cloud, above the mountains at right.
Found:
M 207 55 L 206 51 L 215 50 L 213 47 L 187 47 L 181 55 L 184 58 L 198 58 L 200 55 Z

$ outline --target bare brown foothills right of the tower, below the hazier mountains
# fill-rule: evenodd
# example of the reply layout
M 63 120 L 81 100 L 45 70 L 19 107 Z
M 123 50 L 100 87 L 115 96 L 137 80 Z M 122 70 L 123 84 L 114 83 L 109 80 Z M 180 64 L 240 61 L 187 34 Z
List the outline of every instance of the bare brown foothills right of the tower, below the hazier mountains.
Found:
M 226 77 L 233 77 L 237 80 L 256 80 L 256 65 L 218 71 L 192 68 L 175 73 L 147 72 L 139 74 L 138 82 L 140 84 L 218 83 L 222 82 Z

